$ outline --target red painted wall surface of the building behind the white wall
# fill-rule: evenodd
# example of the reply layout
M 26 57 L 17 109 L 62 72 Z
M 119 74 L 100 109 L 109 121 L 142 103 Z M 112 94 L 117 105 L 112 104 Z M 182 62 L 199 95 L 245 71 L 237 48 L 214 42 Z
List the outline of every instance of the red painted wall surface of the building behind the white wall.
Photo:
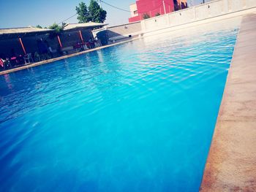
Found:
M 160 15 L 174 11 L 173 0 L 164 0 L 165 9 L 163 0 L 138 0 L 136 1 L 138 8 L 138 16 L 129 18 L 129 22 L 135 22 L 138 20 L 143 20 L 143 15 L 148 14 L 151 18 L 155 17 L 157 13 Z

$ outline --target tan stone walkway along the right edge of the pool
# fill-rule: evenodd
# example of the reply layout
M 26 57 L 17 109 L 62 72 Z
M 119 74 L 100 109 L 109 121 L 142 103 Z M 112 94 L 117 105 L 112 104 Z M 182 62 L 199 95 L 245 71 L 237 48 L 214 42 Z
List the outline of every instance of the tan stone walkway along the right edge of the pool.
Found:
M 256 14 L 241 23 L 200 191 L 256 191 Z

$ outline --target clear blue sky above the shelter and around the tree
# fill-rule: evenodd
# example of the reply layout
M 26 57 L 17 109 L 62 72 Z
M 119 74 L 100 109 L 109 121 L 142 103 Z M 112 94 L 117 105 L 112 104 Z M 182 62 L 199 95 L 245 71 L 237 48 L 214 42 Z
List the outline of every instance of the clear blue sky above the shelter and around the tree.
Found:
M 0 28 L 12 28 L 22 26 L 50 26 L 54 22 L 69 18 L 75 14 L 75 6 L 81 0 L 0 0 Z M 86 0 L 89 4 L 90 0 Z M 116 7 L 129 10 L 129 4 L 136 0 L 105 0 Z M 192 1 L 192 0 L 190 0 Z M 194 0 L 198 3 L 201 0 Z M 102 4 L 103 9 L 108 12 L 106 23 L 111 26 L 127 23 L 129 12 L 123 12 L 118 9 Z M 77 23 L 78 20 L 72 18 L 68 23 Z

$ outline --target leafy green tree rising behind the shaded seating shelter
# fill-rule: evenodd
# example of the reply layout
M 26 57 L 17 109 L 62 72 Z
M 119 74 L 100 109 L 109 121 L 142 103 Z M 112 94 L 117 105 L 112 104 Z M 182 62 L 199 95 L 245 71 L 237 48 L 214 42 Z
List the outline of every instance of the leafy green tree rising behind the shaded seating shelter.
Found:
M 79 23 L 104 23 L 107 17 L 107 12 L 99 7 L 99 4 L 95 0 L 91 0 L 89 7 L 87 8 L 86 4 L 80 2 L 78 7 L 75 7 L 78 13 L 78 22 Z

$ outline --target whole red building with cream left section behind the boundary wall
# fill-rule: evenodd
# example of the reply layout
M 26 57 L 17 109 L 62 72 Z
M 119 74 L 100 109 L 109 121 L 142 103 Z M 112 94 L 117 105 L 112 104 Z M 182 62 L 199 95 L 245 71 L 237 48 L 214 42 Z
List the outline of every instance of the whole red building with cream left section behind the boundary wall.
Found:
M 187 0 L 138 0 L 129 6 L 129 23 L 143 20 L 145 15 L 154 18 L 176 10 L 187 8 Z

